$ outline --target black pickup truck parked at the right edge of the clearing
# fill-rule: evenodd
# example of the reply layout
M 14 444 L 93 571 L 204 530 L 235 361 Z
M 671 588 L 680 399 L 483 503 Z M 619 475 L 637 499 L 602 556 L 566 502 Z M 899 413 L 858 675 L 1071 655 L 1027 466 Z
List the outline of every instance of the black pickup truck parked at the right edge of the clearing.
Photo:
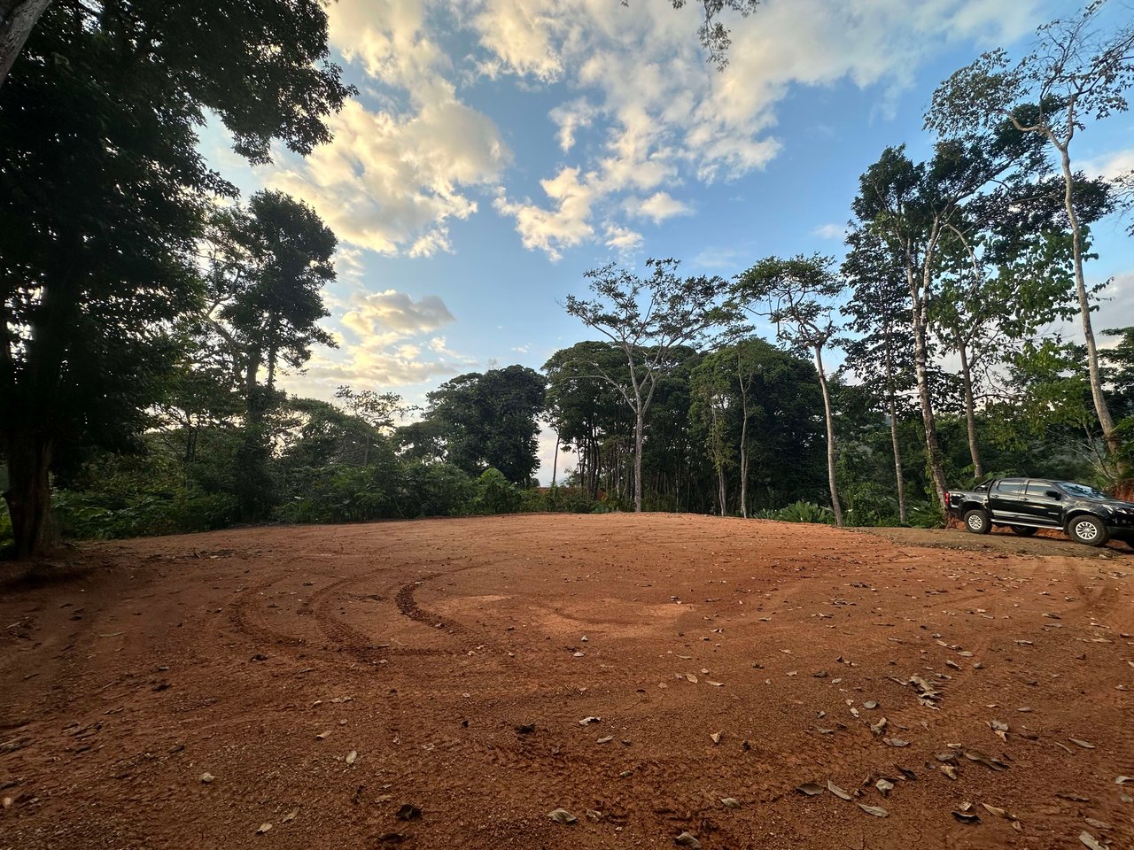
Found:
M 1058 528 L 1072 539 L 1101 546 L 1114 538 L 1134 549 L 1134 502 L 1111 499 L 1086 484 L 1048 478 L 993 478 L 975 490 L 945 494 L 949 513 L 973 534 L 1008 526 L 1019 535 Z

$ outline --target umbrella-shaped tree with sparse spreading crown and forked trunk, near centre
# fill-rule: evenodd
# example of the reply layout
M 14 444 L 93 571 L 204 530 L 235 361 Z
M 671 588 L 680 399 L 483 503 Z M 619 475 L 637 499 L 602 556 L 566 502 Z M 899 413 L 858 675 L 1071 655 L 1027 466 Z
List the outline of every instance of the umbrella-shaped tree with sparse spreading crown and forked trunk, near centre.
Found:
M 567 313 L 593 328 L 621 349 L 626 380 L 593 363 L 634 413 L 634 510 L 642 510 L 642 444 L 645 415 L 658 380 L 672 369 L 676 347 L 702 339 L 719 322 L 716 300 L 723 289 L 720 278 L 680 278 L 676 260 L 648 260 L 649 278 L 618 269 L 613 263 L 584 275 L 598 298 L 567 296 Z

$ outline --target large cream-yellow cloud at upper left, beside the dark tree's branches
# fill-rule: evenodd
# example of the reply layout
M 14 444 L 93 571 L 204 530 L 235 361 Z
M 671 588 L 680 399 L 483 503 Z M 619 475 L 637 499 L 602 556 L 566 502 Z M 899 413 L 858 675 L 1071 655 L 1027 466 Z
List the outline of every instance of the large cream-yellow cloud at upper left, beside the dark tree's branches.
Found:
M 281 154 L 265 181 L 307 201 L 348 245 L 451 250 L 449 222 L 477 211 L 472 193 L 496 185 L 510 159 L 499 129 L 457 97 L 426 5 L 339 0 L 328 17 L 331 44 L 381 84 L 366 87 L 380 105 L 347 101 L 329 119 L 333 141 L 305 160 Z

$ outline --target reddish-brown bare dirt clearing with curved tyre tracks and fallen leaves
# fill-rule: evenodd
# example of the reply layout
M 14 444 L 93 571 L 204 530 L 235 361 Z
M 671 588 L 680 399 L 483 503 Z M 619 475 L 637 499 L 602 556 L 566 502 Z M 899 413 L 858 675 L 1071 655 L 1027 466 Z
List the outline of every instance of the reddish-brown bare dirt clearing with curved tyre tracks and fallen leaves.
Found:
M 1118 547 L 525 516 L 3 569 L 0 848 L 1134 847 Z

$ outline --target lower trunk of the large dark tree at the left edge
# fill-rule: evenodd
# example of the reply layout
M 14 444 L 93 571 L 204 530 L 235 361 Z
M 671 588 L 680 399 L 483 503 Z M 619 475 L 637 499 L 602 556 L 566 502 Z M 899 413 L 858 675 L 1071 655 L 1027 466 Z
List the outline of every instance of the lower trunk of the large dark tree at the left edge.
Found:
M 9 432 L 6 441 L 8 490 L 3 498 L 17 559 L 43 554 L 58 543 L 51 517 L 52 448 L 50 439 L 19 431 Z

